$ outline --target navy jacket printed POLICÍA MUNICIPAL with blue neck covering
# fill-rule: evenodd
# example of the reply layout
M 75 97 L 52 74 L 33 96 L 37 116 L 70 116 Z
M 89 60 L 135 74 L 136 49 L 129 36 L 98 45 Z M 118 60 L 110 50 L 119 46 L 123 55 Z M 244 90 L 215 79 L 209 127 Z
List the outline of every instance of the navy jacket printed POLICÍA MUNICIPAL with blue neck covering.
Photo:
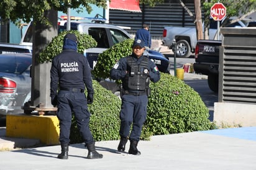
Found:
M 88 94 L 93 94 L 88 60 L 84 55 L 76 52 L 76 42 L 71 40 L 66 40 L 62 53 L 53 58 L 50 78 L 51 97 L 57 94 L 58 85 L 60 89 L 85 89 L 86 86 Z

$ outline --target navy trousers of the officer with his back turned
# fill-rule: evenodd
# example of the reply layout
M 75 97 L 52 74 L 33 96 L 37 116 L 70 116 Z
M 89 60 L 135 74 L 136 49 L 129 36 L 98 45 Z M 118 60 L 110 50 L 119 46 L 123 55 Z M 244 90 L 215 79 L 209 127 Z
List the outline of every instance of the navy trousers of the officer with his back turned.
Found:
M 60 120 L 60 143 L 70 142 L 72 111 L 78 130 L 86 144 L 94 142 L 89 129 L 90 113 L 84 92 L 59 91 L 57 117 Z

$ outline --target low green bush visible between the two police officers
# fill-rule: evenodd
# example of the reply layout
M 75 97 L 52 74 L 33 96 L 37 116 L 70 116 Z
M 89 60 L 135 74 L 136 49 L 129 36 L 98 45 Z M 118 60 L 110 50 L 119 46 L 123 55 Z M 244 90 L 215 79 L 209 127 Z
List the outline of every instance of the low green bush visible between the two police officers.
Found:
M 119 139 L 119 111 L 120 99 L 102 87 L 98 81 L 93 80 L 94 101 L 88 104 L 91 119 L 89 126 L 94 140 L 117 140 Z M 85 92 L 87 94 L 87 92 Z M 83 140 L 78 132 L 75 117 L 72 119 L 70 143 L 82 143 Z

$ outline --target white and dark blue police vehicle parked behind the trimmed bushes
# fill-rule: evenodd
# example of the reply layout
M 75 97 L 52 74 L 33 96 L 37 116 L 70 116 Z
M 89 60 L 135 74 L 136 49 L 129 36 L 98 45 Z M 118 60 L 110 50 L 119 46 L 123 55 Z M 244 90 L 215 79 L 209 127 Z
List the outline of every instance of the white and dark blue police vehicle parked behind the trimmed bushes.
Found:
M 71 30 L 78 30 L 79 32 L 91 35 L 98 43 L 97 47 L 86 49 L 84 55 L 89 61 L 91 68 L 97 63 L 99 53 L 111 48 L 116 43 L 120 43 L 132 36 L 122 29 L 122 27 L 104 24 L 94 23 L 88 21 L 77 21 L 71 20 L 70 22 Z M 58 22 L 58 33 L 66 30 L 66 20 L 61 20 Z M 21 45 L 31 45 L 32 46 L 32 27 L 31 24 L 27 27 L 24 36 L 21 39 Z M 157 65 L 159 71 L 163 73 L 169 73 L 170 71 L 170 61 L 168 58 L 155 50 L 149 50 L 149 58 Z M 148 54 L 148 53 L 147 53 Z

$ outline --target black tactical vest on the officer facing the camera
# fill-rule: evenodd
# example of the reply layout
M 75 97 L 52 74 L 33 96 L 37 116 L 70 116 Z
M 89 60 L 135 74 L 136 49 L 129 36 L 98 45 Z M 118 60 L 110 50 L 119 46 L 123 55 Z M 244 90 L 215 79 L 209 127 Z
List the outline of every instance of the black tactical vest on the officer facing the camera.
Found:
M 122 82 L 122 86 L 127 91 L 144 91 L 149 87 L 149 58 L 145 57 L 140 62 L 136 64 L 132 56 L 127 57 L 127 71 L 129 74 L 126 74 Z

